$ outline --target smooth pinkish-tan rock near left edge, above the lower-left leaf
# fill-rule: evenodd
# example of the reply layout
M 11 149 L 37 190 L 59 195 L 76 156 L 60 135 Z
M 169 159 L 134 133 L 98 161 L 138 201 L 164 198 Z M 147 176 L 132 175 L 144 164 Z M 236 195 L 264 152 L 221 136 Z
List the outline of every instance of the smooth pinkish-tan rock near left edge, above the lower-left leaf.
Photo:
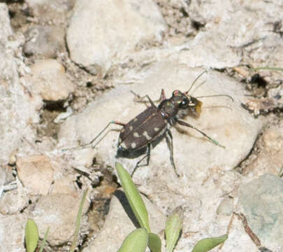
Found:
M 17 175 L 29 193 L 47 195 L 54 180 L 53 174 L 50 159 L 45 155 L 17 159 Z

